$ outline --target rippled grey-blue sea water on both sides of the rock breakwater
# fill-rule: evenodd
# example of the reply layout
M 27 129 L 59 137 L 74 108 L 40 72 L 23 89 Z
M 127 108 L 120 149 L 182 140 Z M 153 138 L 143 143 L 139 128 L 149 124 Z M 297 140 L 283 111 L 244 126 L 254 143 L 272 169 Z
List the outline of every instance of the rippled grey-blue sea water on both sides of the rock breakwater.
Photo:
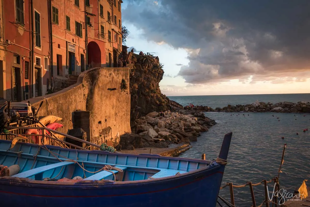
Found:
M 281 101 L 309 101 L 310 94 L 306 95 L 272 95 L 272 100 L 263 99 L 263 95 L 242 95 L 242 102 L 237 102 L 240 96 L 224 97 L 210 103 L 198 102 L 199 105 L 208 105 L 211 107 L 223 107 L 227 104 L 246 104 L 252 103 L 256 99 L 265 102 Z M 247 97 L 248 96 L 248 97 Z M 251 97 L 250 97 L 251 96 Z M 260 96 L 260 97 L 258 97 Z M 269 95 L 267 95 L 269 96 Z M 291 98 L 289 98 L 289 96 Z M 177 102 L 187 102 L 188 97 L 184 99 L 178 97 L 169 97 Z M 199 96 L 195 96 L 198 100 Z M 213 96 L 214 97 L 214 96 Z M 292 97 L 299 97 L 294 99 Z M 202 97 L 206 99 L 204 96 Z M 192 99 L 188 103 L 197 104 Z M 182 100 L 182 101 L 180 101 Z M 208 98 L 210 100 L 210 97 Z M 249 116 L 248 116 L 249 114 Z M 272 117 L 274 115 L 274 117 Z M 295 116 L 294 116 L 295 115 Z M 232 131 L 232 142 L 228 154 L 228 165 L 225 168 L 223 185 L 226 182 L 232 182 L 235 185 L 245 184 L 251 181 L 258 183 L 262 179 L 271 179 L 277 176 L 281 162 L 281 156 L 284 144 L 287 143 L 284 164 L 281 167 L 280 187 L 289 192 L 298 189 L 304 179 L 310 179 L 310 130 L 303 132 L 303 129 L 310 129 L 310 114 L 294 113 L 206 113 L 207 117 L 214 119 L 218 124 L 211 127 L 208 132 L 202 133 L 197 142 L 192 142 L 193 148 L 182 153 L 181 157 L 201 158 L 202 153 L 206 153 L 206 159 L 212 160 L 218 156 L 224 134 Z M 277 119 L 279 117 L 279 119 Z M 296 119 L 296 120 L 295 120 Z M 278 121 L 280 120 L 280 121 Z M 299 135 L 296 135 L 296 132 Z M 284 137 L 284 139 L 281 139 Z M 308 183 L 308 185 L 310 185 Z M 273 190 L 273 184 L 269 184 L 270 196 Z M 254 187 L 256 205 L 259 205 L 264 199 L 263 185 Z M 219 193 L 224 199 L 230 201 L 229 188 L 226 187 Z M 234 188 L 235 204 L 237 206 L 251 206 L 251 196 L 249 187 Z M 223 204 L 223 203 L 222 203 Z

